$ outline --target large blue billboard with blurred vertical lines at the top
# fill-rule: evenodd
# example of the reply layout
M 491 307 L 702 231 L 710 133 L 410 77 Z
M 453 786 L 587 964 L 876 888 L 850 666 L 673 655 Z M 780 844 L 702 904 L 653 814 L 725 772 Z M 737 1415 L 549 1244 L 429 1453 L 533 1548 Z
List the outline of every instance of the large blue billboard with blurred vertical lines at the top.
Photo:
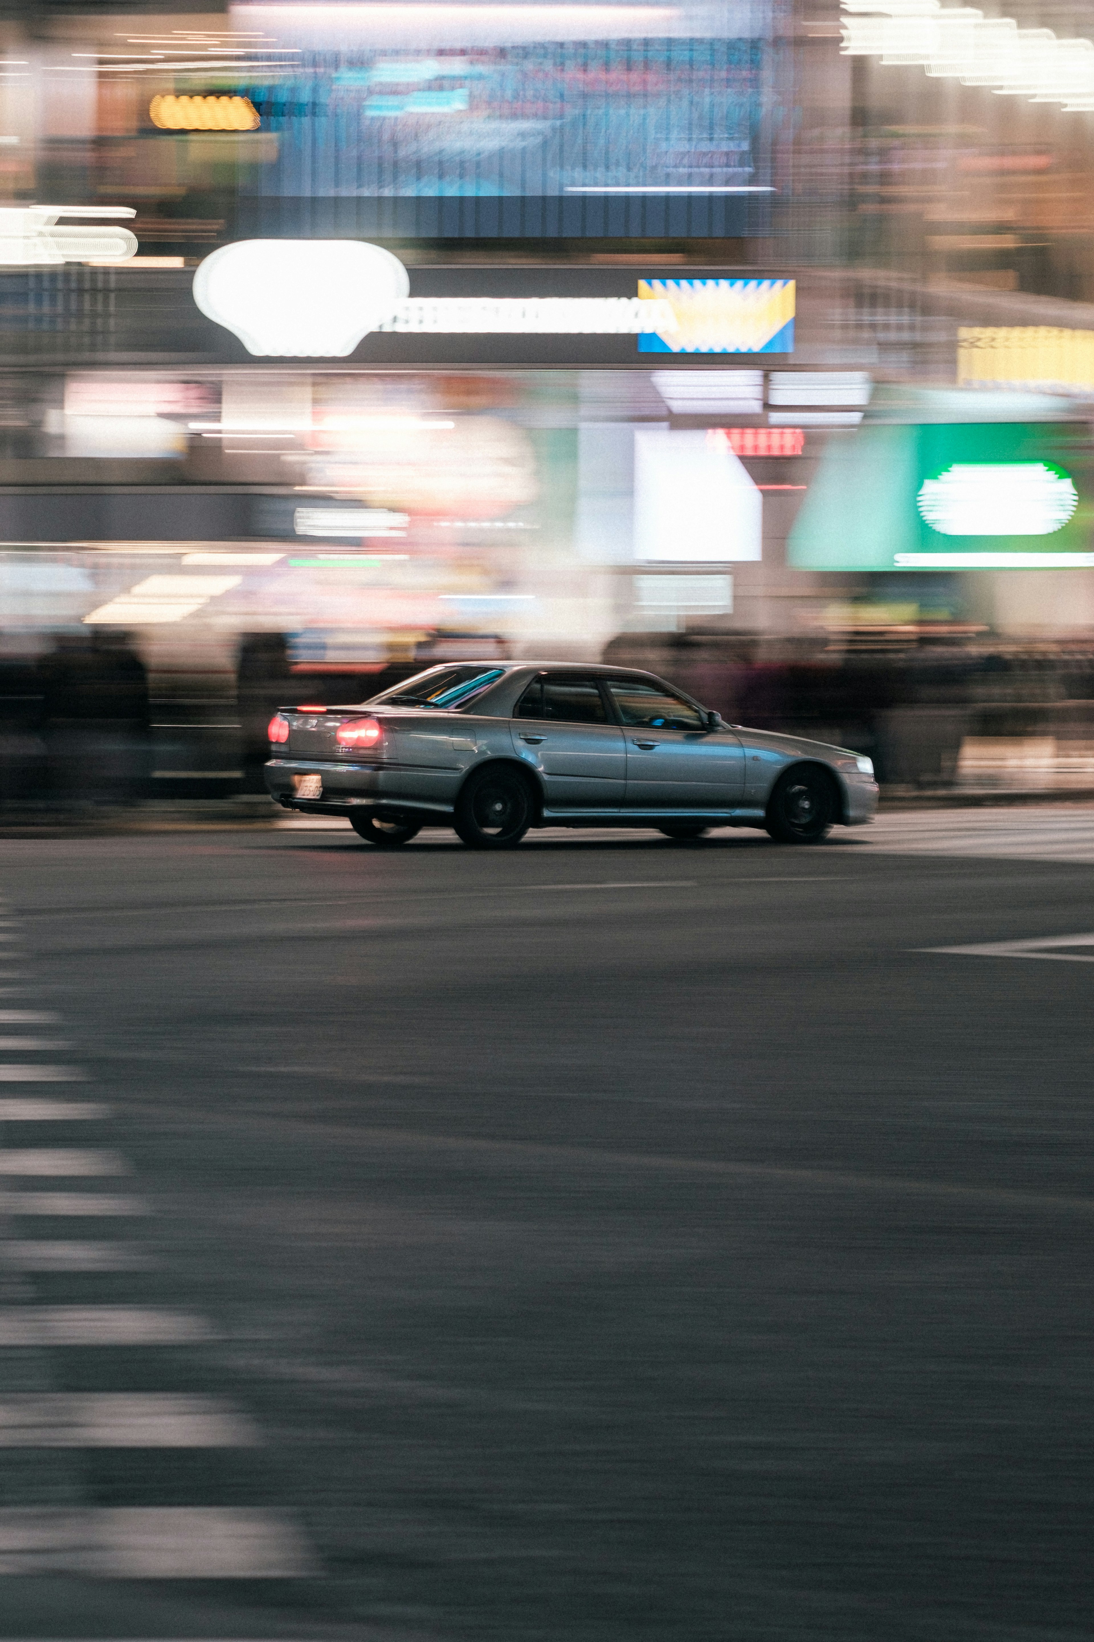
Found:
M 769 232 L 769 7 L 361 7 L 338 43 L 326 10 L 292 69 L 239 87 L 279 140 L 241 184 L 249 232 Z

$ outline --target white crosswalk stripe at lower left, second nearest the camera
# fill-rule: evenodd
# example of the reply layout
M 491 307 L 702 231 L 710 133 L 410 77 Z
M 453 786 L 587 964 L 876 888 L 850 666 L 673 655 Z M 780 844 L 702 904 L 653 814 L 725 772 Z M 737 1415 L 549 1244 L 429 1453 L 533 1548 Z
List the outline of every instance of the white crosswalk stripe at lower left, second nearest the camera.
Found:
M 0 1448 L 256 1448 L 259 1442 L 251 1420 L 215 1397 L 0 1397 Z

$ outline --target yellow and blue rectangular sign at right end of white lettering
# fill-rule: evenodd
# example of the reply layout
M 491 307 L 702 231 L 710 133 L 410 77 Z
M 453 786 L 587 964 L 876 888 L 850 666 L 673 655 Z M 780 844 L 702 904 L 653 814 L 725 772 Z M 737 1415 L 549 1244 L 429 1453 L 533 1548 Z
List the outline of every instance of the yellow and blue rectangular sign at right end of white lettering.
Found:
M 676 328 L 640 332 L 640 353 L 792 353 L 792 279 L 640 279 L 638 296 L 668 302 Z

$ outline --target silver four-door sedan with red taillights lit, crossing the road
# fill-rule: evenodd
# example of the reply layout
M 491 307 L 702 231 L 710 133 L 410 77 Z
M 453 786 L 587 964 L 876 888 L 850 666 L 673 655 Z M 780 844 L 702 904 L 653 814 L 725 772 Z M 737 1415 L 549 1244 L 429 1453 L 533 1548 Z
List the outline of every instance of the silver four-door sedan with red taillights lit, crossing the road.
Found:
M 472 849 L 512 849 L 541 826 L 653 826 L 672 839 L 753 826 L 815 844 L 877 808 L 861 754 L 723 724 L 622 667 L 431 667 L 358 706 L 282 708 L 269 739 L 279 805 L 344 816 L 384 849 L 423 826 L 451 826 Z

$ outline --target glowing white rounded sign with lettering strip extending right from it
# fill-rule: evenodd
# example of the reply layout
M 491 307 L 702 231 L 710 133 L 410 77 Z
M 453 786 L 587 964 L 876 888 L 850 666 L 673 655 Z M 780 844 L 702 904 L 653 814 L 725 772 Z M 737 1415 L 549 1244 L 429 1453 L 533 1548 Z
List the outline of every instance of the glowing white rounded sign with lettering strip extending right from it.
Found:
M 194 276 L 202 314 L 248 353 L 344 358 L 372 330 L 410 335 L 635 337 L 674 330 L 669 302 L 638 297 L 408 297 L 407 269 L 361 240 L 241 240 Z

